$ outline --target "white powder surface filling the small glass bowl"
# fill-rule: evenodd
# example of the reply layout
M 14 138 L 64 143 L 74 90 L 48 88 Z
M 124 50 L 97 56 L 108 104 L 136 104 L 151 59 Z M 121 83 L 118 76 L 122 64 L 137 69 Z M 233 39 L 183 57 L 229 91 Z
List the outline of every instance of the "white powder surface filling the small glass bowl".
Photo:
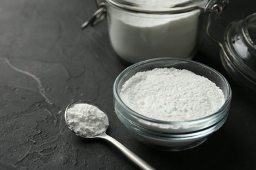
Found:
M 186 121 L 213 114 L 224 104 L 223 91 L 211 80 L 186 69 L 156 68 L 123 84 L 121 100 L 156 120 Z

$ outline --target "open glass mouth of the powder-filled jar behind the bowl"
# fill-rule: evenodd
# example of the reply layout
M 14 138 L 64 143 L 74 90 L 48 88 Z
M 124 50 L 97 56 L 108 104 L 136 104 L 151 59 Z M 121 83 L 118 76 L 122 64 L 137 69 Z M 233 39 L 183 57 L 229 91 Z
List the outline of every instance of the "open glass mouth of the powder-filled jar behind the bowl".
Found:
M 162 13 L 205 7 L 209 0 L 106 0 L 121 9 L 146 13 Z

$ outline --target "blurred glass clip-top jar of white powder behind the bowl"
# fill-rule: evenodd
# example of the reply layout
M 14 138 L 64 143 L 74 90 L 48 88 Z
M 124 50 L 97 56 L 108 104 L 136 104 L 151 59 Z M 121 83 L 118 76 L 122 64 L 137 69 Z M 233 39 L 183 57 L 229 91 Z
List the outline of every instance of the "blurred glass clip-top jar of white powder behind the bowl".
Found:
M 192 59 L 204 33 L 205 13 L 214 5 L 224 6 L 227 2 L 96 0 L 98 10 L 92 24 L 106 12 L 112 47 L 129 63 L 164 57 Z

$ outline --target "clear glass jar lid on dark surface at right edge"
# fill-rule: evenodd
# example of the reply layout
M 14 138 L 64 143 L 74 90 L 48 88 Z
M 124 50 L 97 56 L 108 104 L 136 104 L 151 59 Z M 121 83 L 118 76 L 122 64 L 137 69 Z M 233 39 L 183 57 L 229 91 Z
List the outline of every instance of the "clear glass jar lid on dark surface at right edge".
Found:
M 256 92 L 256 13 L 228 25 L 223 47 L 221 57 L 226 71 Z

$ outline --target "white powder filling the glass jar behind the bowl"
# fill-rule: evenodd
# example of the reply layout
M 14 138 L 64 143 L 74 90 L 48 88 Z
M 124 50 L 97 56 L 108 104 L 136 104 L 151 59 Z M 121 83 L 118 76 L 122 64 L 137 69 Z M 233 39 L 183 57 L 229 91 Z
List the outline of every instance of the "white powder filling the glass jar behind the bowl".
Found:
M 147 1 L 145 1 L 147 2 Z M 152 1 L 147 4 L 152 5 Z M 154 1 L 156 7 L 161 1 Z M 110 42 L 130 63 L 150 58 L 190 59 L 198 41 L 200 10 L 181 14 L 143 14 L 109 8 Z

